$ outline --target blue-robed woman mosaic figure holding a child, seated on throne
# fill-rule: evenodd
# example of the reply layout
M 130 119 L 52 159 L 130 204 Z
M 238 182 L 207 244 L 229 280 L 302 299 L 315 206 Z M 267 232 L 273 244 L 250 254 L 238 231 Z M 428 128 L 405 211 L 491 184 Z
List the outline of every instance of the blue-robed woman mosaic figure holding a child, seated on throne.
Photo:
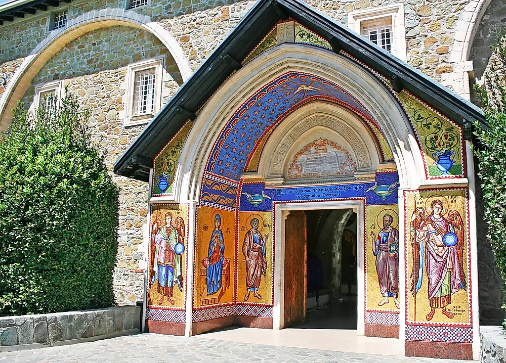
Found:
M 222 271 L 225 257 L 225 242 L 221 230 L 221 217 L 215 216 L 215 229 L 209 241 L 209 250 L 207 253 L 207 271 L 206 284 L 207 295 L 216 294 L 222 287 Z

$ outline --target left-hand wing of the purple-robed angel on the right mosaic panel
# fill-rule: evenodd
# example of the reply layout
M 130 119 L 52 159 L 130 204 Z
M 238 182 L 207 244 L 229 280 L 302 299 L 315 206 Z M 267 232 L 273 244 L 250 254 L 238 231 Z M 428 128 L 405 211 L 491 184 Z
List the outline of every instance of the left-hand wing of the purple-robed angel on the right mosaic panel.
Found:
M 411 269 L 411 288 L 410 291 L 413 295 L 416 295 L 418 290 L 421 288 L 421 282 L 423 279 L 424 271 L 424 246 L 423 241 L 417 242 L 418 230 L 427 223 L 429 216 L 425 213 L 425 209 L 418 207 L 413 211 L 411 215 L 411 224 L 409 230 L 410 242 L 411 242 L 411 253 L 413 256 L 413 268 Z

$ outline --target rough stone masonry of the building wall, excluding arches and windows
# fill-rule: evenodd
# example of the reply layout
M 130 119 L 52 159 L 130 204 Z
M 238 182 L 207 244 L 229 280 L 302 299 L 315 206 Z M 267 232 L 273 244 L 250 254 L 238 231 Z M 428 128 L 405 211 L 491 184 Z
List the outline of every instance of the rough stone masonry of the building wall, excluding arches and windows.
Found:
M 425 74 L 440 80 L 452 72 L 448 63 L 452 49 L 455 24 L 470 0 L 406 0 L 404 1 L 408 62 Z M 308 4 L 328 16 L 348 24 L 348 14 L 354 10 L 375 8 L 396 3 L 394 0 L 308 0 Z M 203 60 L 232 31 L 233 27 L 255 4 L 255 1 L 227 0 L 151 0 L 137 13 L 151 17 L 179 42 L 195 70 Z M 65 5 L 67 6 L 67 5 Z M 69 19 L 94 9 L 123 8 L 123 0 L 76 0 L 68 5 Z M 64 7 L 60 8 L 64 9 Z M 54 9 L 52 9 L 54 10 Z M 37 12 L 13 24 L 0 27 L 0 71 L 7 73 L 8 84 L 23 59 L 49 35 L 50 12 Z M 106 39 L 106 40 L 103 40 Z M 131 46 L 125 46 L 128 42 Z M 158 50 L 158 51 L 154 51 Z M 132 143 L 143 126 L 125 128 L 118 119 L 124 107 L 125 62 L 152 57 L 166 52 L 151 34 L 130 27 L 115 26 L 96 30 L 72 41 L 39 72 L 32 85 L 68 78 L 70 90 L 77 92 L 84 108 L 92 110 L 97 142 L 107 152 L 111 168 L 116 158 Z M 140 54 L 140 58 L 139 58 Z M 125 59 L 128 59 L 126 61 Z M 174 63 L 167 58 L 167 70 L 173 75 L 165 86 L 173 93 L 181 83 Z M 119 88 L 118 88 L 119 87 Z M 0 88 L 0 97 L 3 89 Z M 166 102 L 170 96 L 164 97 Z M 25 101 L 33 96 L 28 89 Z M 102 139 L 99 136 L 102 135 Z M 122 188 L 120 209 L 120 249 L 114 273 L 116 299 L 120 304 L 142 299 L 142 226 L 146 222 L 147 184 L 115 177 Z

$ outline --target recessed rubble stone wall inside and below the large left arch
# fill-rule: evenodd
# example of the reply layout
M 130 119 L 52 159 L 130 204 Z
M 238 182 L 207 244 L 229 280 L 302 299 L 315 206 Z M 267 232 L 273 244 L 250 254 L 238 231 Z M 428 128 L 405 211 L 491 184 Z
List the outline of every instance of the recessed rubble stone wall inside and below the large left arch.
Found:
M 124 26 L 98 29 L 78 37 L 54 55 L 38 72 L 23 101 L 32 103 L 36 84 L 64 79 L 68 92 L 77 96 L 82 109 L 91 111 L 93 139 L 106 153 L 106 165 L 121 190 L 119 197 L 119 250 L 114 270 L 117 303 L 135 304 L 143 298 L 142 228 L 147 215 L 147 183 L 114 175 L 116 159 L 144 126 L 123 125 L 119 118 L 125 98 L 126 65 L 166 54 L 163 79 L 165 98 L 181 83 L 179 70 L 161 42 L 150 33 Z M 168 73 L 167 73 L 168 72 Z

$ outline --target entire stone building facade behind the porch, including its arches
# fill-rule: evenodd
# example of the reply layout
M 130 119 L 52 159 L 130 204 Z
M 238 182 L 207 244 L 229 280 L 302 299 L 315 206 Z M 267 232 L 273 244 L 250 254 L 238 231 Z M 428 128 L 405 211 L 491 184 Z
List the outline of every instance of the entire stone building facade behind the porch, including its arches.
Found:
M 151 60 L 161 62 L 154 115 L 254 4 L 68 0 L 30 7 L 30 2 L 14 0 L 0 7 L 0 129 L 9 126 L 11 109 L 18 101 L 34 107 L 47 89 L 61 95 L 68 87 L 67 92 L 78 96 L 82 108 L 91 110 L 89 126 L 107 153 L 107 166 L 121 189 L 120 247 L 114 271 L 118 304 L 134 304 L 144 299 L 145 292 L 149 186 L 112 173 L 117 157 L 151 118 L 132 122 L 129 114 L 135 67 Z M 491 19 L 499 24 L 505 13 L 500 0 L 325 0 L 307 4 L 350 27 L 360 27 L 362 19 L 392 16 L 392 43 L 400 44 L 396 51 L 402 51 L 393 53 L 468 100 L 470 82 L 482 76 L 488 62 Z M 58 20 L 60 24 L 55 23 Z M 500 300 L 500 296 L 493 298 Z M 489 315 L 496 313 L 489 311 Z

